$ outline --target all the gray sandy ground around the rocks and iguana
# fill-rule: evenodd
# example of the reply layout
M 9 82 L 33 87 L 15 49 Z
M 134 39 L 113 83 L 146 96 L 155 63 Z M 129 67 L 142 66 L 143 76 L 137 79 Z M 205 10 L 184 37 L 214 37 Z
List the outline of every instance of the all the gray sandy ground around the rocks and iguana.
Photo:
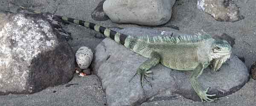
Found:
M 8 1 L 32 7 L 32 9 L 55 12 L 55 14 L 88 20 L 106 27 L 137 26 L 132 24 L 115 24 L 111 20 L 95 21 L 90 14 L 101 0 L 2 0 L 0 9 L 16 11 Z M 247 68 L 256 61 L 256 1 L 233 0 L 240 7 L 244 20 L 231 22 L 218 22 L 211 16 L 197 9 L 197 0 L 177 0 L 173 7 L 172 19 L 164 26 L 175 25 L 184 33 L 195 33 L 204 30 L 210 34 L 220 35 L 226 33 L 235 38 L 233 54 L 245 58 Z M 161 26 L 160 26 L 161 27 Z M 80 46 L 88 46 L 93 50 L 102 39 L 94 37 L 96 32 L 73 24 L 65 25 L 64 29 L 70 32 L 73 40 L 70 45 L 76 51 Z M 161 29 L 161 28 L 154 28 Z M 166 29 L 168 30 L 168 29 Z M 105 106 L 104 92 L 95 75 L 86 77 L 75 76 L 70 83 L 75 85 L 65 87 L 67 84 L 50 87 L 33 95 L 6 95 L 0 96 L 0 106 Z M 76 85 L 78 83 L 78 85 Z M 56 91 L 55 93 L 53 93 Z M 219 98 L 215 103 L 193 102 L 177 96 L 172 100 L 152 101 L 141 106 L 256 106 L 256 81 L 250 81 L 238 92 Z

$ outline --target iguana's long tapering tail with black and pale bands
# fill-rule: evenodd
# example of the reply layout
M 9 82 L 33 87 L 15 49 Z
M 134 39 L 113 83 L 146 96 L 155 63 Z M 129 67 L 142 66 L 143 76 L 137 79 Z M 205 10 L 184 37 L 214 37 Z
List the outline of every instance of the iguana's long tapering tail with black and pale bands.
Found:
M 42 13 L 41 11 L 35 11 L 35 10 L 28 9 L 26 7 L 23 7 L 23 6 L 19 6 L 19 7 L 21 9 L 25 9 L 25 10 L 33 12 L 33 13 L 37 13 L 37 14 L 41 14 Z M 131 44 L 125 44 L 125 40 L 128 37 L 128 35 L 126 35 L 126 34 L 115 32 L 115 31 L 113 31 L 111 29 L 107 29 L 107 28 L 105 28 L 103 26 L 99 26 L 99 25 L 96 25 L 94 23 L 90 23 L 90 22 L 83 21 L 83 20 L 76 20 L 76 19 L 73 19 L 73 18 L 63 17 L 63 16 L 59 16 L 59 15 L 53 15 L 53 17 L 57 17 L 57 18 L 59 18 L 61 20 L 68 21 L 70 23 L 75 23 L 75 24 L 78 24 L 78 25 L 85 26 L 87 28 L 93 29 L 96 32 L 100 32 L 101 34 L 104 34 L 105 37 L 109 37 L 112 40 L 116 41 L 117 43 L 120 43 L 120 44 L 124 45 L 125 47 L 130 48 L 129 46 Z M 128 43 L 130 43 L 130 42 L 128 42 Z

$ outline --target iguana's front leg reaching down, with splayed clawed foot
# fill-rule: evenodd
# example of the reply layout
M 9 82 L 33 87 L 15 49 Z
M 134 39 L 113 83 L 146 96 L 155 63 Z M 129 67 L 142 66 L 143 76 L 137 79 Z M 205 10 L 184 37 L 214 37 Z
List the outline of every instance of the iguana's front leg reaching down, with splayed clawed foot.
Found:
M 199 63 L 199 65 L 195 68 L 195 70 L 192 71 L 191 74 L 191 85 L 192 87 L 195 89 L 195 92 L 198 94 L 198 96 L 201 98 L 201 101 L 203 102 L 204 100 L 207 102 L 212 102 L 214 100 L 208 98 L 208 97 L 212 97 L 215 95 L 208 95 L 208 89 L 209 87 L 203 91 L 201 88 L 201 85 L 198 83 L 198 77 L 203 73 L 205 65 Z

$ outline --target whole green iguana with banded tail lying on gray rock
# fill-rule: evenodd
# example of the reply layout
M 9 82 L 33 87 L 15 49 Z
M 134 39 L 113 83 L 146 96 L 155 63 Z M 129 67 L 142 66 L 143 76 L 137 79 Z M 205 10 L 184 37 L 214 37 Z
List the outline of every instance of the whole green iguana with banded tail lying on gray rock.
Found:
M 22 6 L 20 6 L 20 8 L 41 14 L 40 11 L 34 11 Z M 148 60 L 140 65 L 136 72 L 136 74 L 140 75 L 141 85 L 143 81 L 148 82 L 146 77 L 150 77 L 150 69 L 158 63 L 170 69 L 192 71 L 190 77 L 191 85 L 202 101 L 212 102 L 214 100 L 208 97 L 215 95 L 207 94 L 209 88 L 206 90 L 201 88 L 198 77 L 209 64 L 212 65 L 213 71 L 217 71 L 231 55 L 232 48 L 226 40 L 215 40 L 209 34 L 184 34 L 175 37 L 131 36 L 115 32 L 87 21 L 58 15 L 52 16 L 53 18 L 59 18 L 100 32 L 106 37 L 116 41 L 116 43 L 148 58 Z

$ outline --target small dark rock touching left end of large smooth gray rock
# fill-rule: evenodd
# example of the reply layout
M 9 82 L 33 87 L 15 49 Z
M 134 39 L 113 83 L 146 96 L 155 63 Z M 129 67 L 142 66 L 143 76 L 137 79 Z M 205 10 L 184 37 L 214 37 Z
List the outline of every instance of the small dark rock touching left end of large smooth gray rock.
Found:
M 94 20 L 97 21 L 105 21 L 108 20 L 108 15 L 105 14 L 105 12 L 103 11 L 103 3 L 105 2 L 105 0 L 102 0 L 98 6 L 94 9 L 94 11 L 92 12 L 91 16 Z

